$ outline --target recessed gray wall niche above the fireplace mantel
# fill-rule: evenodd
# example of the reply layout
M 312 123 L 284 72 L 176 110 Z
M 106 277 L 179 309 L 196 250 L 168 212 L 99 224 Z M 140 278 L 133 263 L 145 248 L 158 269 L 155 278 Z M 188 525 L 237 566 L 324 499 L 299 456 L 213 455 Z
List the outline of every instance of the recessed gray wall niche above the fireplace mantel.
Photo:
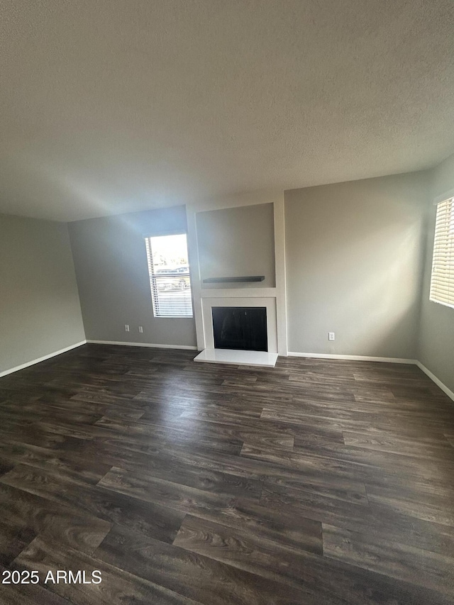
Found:
M 201 279 L 264 275 L 263 282 L 202 287 L 275 287 L 272 204 L 199 212 L 196 215 Z

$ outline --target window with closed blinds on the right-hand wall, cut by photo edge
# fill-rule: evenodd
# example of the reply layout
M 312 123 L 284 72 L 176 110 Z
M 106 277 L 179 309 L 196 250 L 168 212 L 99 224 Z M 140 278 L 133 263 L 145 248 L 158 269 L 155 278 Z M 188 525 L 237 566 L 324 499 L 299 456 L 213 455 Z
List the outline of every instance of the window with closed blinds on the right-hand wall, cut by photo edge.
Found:
M 454 198 L 437 204 L 431 301 L 454 307 Z

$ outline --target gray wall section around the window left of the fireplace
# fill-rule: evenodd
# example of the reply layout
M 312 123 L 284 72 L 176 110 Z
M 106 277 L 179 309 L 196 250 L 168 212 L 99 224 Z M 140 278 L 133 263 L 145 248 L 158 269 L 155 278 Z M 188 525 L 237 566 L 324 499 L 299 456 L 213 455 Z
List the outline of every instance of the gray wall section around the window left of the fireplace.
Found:
M 145 251 L 146 235 L 186 231 L 184 206 L 93 218 L 69 227 L 87 340 L 196 345 L 193 318 L 153 317 Z

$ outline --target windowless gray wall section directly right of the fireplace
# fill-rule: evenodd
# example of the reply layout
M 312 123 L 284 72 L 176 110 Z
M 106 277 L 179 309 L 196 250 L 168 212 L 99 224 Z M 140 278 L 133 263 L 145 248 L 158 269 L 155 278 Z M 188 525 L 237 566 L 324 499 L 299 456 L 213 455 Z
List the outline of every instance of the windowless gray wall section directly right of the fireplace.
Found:
M 285 192 L 289 351 L 416 357 L 427 199 L 425 172 Z

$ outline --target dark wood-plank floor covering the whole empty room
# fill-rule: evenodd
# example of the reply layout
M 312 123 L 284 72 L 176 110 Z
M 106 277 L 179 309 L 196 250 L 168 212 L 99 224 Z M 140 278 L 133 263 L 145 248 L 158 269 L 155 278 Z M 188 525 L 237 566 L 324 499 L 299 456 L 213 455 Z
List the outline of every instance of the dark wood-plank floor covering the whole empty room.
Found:
M 1 604 L 453 604 L 454 404 L 433 382 L 193 357 L 84 345 L 0 379 L 0 572 L 40 577 Z

